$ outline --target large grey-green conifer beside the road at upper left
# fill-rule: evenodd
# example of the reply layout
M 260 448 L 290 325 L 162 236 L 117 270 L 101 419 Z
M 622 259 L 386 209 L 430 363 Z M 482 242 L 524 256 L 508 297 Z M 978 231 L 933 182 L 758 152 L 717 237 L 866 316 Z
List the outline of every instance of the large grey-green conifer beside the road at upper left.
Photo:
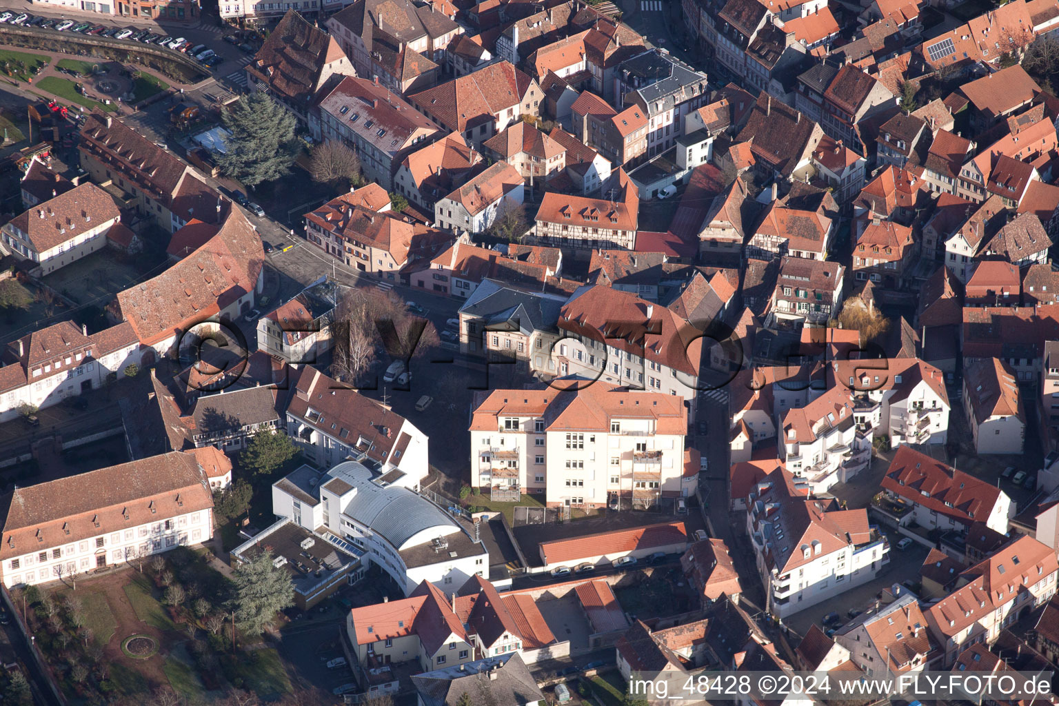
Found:
M 223 114 L 227 152 L 220 170 L 253 188 L 290 170 L 298 157 L 294 115 L 264 93 L 250 93 Z

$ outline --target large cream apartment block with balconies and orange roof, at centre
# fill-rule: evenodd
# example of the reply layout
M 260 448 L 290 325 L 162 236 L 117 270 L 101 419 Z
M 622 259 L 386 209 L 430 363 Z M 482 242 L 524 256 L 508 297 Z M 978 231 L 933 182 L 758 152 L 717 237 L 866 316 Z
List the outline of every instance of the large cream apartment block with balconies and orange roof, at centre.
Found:
M 602 381 L 498 390 L 471 414 L 471 477 L 495 500 L 532 493 L 549 507 L 650 507 L 686 491 L 686 431 L 687 410 L 672 395 Z

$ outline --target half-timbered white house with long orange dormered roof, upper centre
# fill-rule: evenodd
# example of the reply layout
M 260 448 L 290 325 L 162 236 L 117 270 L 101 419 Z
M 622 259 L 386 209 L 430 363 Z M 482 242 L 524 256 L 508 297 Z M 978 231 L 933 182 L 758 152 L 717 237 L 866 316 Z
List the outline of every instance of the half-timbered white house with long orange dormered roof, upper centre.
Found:
M 604 186 L 603 198 L 544 194 L 534 230 L 534 242 L 555 248 L 624 248 L 634 250 L 640 193 L 624 169 L 616 186 Z

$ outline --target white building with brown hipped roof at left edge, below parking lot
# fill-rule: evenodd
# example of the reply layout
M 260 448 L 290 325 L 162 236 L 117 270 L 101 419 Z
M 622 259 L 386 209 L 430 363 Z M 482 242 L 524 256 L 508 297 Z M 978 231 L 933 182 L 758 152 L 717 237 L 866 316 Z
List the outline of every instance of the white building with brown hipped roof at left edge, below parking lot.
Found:
M 0 229 L 0 252 L 32 260 L 37 275 L 102 250 L 121 213 L 113 198 L 95 184 L 76 186 L 38 203 Z

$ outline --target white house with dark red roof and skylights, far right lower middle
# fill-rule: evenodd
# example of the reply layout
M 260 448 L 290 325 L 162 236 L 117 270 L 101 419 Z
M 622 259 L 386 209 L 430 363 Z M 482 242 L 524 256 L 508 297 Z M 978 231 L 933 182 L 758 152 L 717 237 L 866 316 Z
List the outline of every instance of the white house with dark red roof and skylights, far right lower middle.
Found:
M 910 505 L 910 520 L 928 529 L 963 530 L 982 522 L 1003 535 L 1016 509 L 997 486 L 908 446 L 898 448 L 879 485 L 891 497 Z

